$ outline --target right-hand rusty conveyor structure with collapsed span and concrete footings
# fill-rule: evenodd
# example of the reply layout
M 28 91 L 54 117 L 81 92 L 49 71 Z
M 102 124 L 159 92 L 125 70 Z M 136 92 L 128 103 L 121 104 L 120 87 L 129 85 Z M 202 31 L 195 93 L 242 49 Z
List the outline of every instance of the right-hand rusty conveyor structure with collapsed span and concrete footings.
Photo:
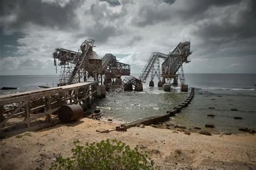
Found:
M 134 86 L 136 91 L 142 91 L 142 82 L 145 83 L 147 77 L 149 77 L 151 73 L 150 87 L 154 86 L 153 79 L 157 76 L 159 80 L 158 87 L 163 87 L 164 84 L 165 91 L 170 91 L 172 79 L 174 85 L 178 85 L 179 79 L 181 83 L 181 91 L 187 91 L 188 86 L 185 83 L 183 63 L 190 62 L 189 56 L 191 54 L 192 51 L 190 51 L 189 41 L 180 42 L 172 52 L 169 52 L 169 54 L 153 52 L 138 78 L 130 76 L 124 79 L 124 89 L 131 90 L 133 89 L 132 86 Z M 164 59 L 164 62 L 161 65 L 161 72 L 159 58 Z

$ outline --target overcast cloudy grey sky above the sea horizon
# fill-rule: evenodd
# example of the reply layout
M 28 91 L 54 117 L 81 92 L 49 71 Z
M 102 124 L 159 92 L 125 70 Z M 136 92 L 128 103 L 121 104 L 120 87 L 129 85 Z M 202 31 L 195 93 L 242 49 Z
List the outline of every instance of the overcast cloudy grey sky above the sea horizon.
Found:
M 88 38 L 132 74 L 181 41 L 193 51 L 185 73 L 255 74 L 256 1 L 0 0 L 0 75 L 56 74 L 55 48 L 78 51 Z

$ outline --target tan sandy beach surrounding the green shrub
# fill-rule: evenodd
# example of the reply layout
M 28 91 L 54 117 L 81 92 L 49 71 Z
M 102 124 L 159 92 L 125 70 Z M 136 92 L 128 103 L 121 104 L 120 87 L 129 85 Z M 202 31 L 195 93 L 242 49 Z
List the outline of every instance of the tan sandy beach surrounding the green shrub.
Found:
M 116 123 L 83 118 L 70 124 L 25 132 L 0 140 L 0 169 L 49 169 L 56 157 L 71 155 L 73 141 L 118 139 L 149 151 L 163 169 L 256 169 L 256 136 L 248 133 L 206 136 L 152 126 L 98 133 Z

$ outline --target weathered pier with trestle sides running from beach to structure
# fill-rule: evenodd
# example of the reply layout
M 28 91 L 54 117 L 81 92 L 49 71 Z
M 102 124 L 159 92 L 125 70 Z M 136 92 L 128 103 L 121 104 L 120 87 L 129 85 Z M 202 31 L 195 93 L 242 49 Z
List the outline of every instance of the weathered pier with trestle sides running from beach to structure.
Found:
M 52 114 L 55 114 L 63 105 L 83 104 L 84 108 L 89 108 L 96 97 L 104 96 L 104 86 L 97 86 L 96 81 L 1 95 L 0 130 L 20 124 L 29 128 L 32 121 L 44 117 L 46 121 L 51 122 Z M 15 119 L 17 117 L 24 119 L 18 122 Z

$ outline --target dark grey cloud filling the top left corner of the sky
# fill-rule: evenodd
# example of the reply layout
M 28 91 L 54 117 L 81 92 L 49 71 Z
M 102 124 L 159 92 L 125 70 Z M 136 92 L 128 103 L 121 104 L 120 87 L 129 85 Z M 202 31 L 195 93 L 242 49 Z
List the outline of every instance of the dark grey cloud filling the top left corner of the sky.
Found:
M 28 23 L 56 27 L 57 29 L 76 27 L 77 20 L 74 10 L 81 2 L 72 0 L 64 6 L 60 6 L 57 3 L 39 0 L 2 0 L 0 1 L 0 17 L 6 19 L 0 26 L 5 30 L 22 29 Z

